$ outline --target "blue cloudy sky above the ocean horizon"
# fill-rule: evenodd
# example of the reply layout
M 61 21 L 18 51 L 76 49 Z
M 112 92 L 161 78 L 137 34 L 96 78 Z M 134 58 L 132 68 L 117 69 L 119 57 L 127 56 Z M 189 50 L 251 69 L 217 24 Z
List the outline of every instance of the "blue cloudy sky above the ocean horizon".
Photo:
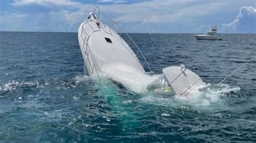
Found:
M 0 31 L 77 32 L 95 5 L 127 32 L 256 33 L 256 0 L 0 0 Z

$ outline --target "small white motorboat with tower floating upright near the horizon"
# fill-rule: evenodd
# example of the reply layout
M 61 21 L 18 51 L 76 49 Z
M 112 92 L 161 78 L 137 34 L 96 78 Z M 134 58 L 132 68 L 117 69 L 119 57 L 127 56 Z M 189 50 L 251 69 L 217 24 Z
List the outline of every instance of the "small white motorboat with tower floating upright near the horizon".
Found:
M 217 26 L 211 26 L 211 30 L 205 34 L 202 35 L 195 35 L 194 37 L 197 38 L 197 40 L 222 40 L 222 37 L 220 37 L 217 34 Z

